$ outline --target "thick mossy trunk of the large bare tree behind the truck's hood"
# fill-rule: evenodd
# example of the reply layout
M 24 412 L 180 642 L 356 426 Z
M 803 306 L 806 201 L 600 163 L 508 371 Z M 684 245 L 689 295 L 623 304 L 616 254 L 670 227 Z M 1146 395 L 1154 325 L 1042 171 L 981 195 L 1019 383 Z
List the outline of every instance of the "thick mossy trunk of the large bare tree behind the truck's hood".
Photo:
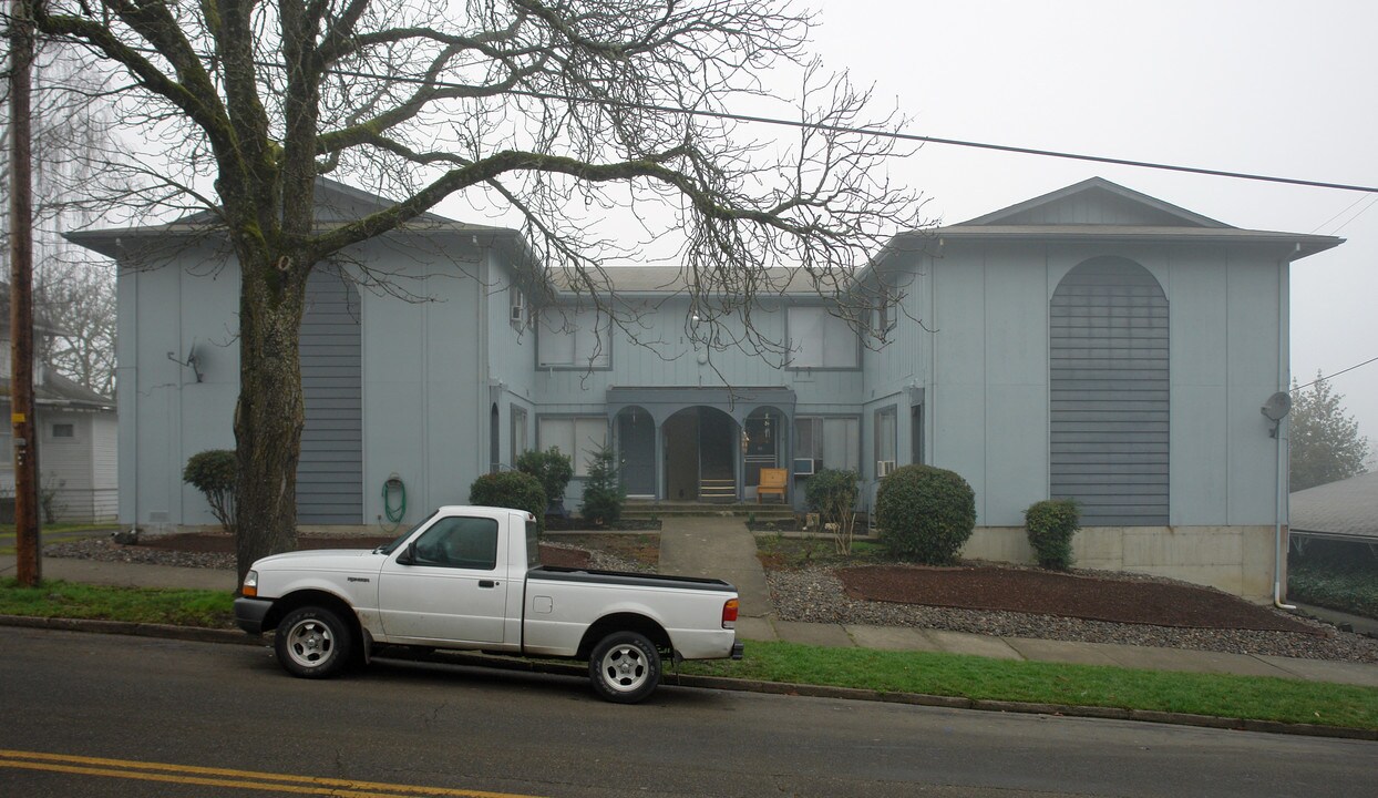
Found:
M 299 340 L 306 278 L 289 256 L 240 251 L 238 451 L 240 582 L 255 560 L 296 549 L 296 462 L 306 408 Z

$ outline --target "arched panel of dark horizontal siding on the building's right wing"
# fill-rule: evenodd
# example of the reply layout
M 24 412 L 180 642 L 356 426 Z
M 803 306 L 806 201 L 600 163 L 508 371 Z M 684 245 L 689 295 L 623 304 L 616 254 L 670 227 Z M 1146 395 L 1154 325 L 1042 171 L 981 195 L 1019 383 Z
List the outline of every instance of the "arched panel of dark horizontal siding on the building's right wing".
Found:
M 1133 260 L 1093 258 L 1053 292 L 1050 493 L 1086 526 L 1169 518 L 1169 309 Z

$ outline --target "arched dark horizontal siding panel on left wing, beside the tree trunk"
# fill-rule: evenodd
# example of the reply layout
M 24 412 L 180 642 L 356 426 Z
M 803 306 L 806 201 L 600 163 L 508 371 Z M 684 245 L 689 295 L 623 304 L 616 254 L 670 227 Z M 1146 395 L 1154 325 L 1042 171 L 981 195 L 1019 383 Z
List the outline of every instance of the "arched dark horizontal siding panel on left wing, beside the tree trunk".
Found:
M 364 522 L 364 409 L 360 302 L 335 269 L 306 285 L 302 393 L 306 427 L 296 466 L 300 524 Z

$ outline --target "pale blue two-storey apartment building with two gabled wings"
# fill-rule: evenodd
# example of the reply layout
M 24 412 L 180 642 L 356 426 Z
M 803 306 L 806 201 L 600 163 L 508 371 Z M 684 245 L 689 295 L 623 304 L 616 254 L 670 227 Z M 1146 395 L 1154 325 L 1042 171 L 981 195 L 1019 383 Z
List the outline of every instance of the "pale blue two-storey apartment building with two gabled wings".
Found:
M 321 218 L 382 200 L 324 182 Z M 72 237 L 120 265 L 120 521 L 211 522 L 186 459 L 233 445 L 238 274 L 198 219 Z M 610 442 L 630 495 L 751 499 L 762 467 L 897 464 L 962 474 L 965 554 L 1028 561 L 1022 510 L 1071 496 L 1080 565 L 1167 573 L 1261 600 L 1273 582 L 1276 438 L 1293 260 L 1338 238 L 1242 230 L 1101 179 L 897 236 L 858 276 L 864 335 L 812 287 L 762 299 L 783 368 L 685 335 L 675 270 L 619 269 L 655 309 L 627 339 L 565 292 L 532 303 L 513 230 L 426 216 L 314 274 L 302 331 L 303 525 L 369 525 L 405 485 L 408 521 L 463 502 L 528 448 Z M 369 288 L 387 274 L 415 298 Z M 790 276 L 785 276 L 790 277 Z M 802 283 L 796 280 L 796 283 Z M 577 503 L 580 482 L 570 485 Z

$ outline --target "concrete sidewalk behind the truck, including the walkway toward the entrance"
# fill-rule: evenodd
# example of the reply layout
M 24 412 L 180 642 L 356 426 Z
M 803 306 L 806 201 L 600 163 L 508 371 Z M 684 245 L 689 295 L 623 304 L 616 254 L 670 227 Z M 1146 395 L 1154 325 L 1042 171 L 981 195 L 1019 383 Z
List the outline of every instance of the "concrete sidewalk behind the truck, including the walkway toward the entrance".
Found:
M 660 531 L 660 571 L 682 576 L 712 576 L 730 582 L 741 597 L 737 634 L 747 641 L 787 641 L 821 646 L 881 651 L 929 651 L 1009 660 L 1122 666 L 1162 671 L 1262 675 L 1317 682 L 1378 686 L 1378 664 L 1251 656 L 1118 644 L 1061 642 L 985 637 L 912 627 L 875 627 L 780 620 L 770 604 L 765 569 L 745 524 L 730 517 L 670 517 Z M 15 575 L 15 558 L 0 555 L 0 577 Z M 230 571 L 171 568 L 128 562 L 95 562 L 50 557 L 44 579 L 90 584 L 187 587 L 233 591 Z

